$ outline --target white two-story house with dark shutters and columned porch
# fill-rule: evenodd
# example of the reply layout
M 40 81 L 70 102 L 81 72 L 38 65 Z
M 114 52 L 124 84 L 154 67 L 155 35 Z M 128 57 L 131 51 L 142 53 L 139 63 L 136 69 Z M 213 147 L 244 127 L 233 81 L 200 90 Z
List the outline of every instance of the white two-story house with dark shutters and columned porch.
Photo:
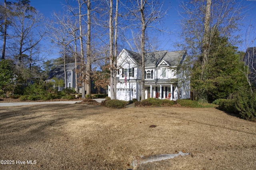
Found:
M 186 55 L 186 51 L 157 51 L 145 54 L 145 99 L 190 98 L 190 78 L 182 71 L 176 74 L 177 66 L 184 61 Z M 127 49 L 123 49 L 119 54 L 116 84 L 118 100 L 140 100 L 142 95 L 140 60 L 140 54 Z M 111 96 L 110 86 L 108 96 Z

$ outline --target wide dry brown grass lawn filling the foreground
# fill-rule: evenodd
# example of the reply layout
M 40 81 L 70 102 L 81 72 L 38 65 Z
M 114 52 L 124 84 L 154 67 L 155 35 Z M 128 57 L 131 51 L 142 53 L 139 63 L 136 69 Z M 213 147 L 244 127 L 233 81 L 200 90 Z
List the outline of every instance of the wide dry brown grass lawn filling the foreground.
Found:
M 156 125 L 150 128 L 150 125 Z M 127 170 L 132 156 L 189 152 L 139 170 L 256 169 L 256 123 L 214 108 L 1 107 L 0 169 Z

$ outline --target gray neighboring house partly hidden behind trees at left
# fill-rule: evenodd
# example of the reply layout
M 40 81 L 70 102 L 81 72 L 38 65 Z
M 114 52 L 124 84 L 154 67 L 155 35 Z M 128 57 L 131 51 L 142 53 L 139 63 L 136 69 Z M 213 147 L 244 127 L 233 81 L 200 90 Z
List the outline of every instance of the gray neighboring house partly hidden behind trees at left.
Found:
M 64 81 L 66 83 L 66 88 L 76 88 L 76 72 L 75 72 L 75 63 L 68 63 L 65 65 L 66 70 L 66 82 L 65 82 L 65 73 L 64 73 L 64 65 L 60 65 L 54 69 L 52 69 L 49 72 L 49 78 L 46 80 L 46 82 L 52 82 L 52 78 L 58 78 Z M 78 74 L 79 77 L 79 74 Z M 58 91 L 61 91 L 65 88 L 65 84 L 63 86 L 58 87 Z M 82 93 L 82 87 L 78 87 L 79 93 Z M 85 87 L 86 89 L 86 87 Z M 91 81 L 91 93 L 97 94 L 97 93 L 104 93 L 103 88 L 95 88 L 95 84 L 93 81 Z

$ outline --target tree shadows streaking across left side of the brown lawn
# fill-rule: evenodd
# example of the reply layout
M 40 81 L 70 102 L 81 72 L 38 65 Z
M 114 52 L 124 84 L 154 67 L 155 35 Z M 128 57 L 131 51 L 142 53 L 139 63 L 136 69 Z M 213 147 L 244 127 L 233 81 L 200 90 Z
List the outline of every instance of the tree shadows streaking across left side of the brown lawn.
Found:
M 100 106 L 82 104 L 46 104 L 34 106 L 16 106 L 0 111 L 0 145 L 28 145 L 34 141 L 48 141 L 50 134 L 67 135 L 61 127 L 70 121 L 87 119 L 96 115 Z M 93 109 L 92 109 L 93 108 Z M 88 111 L 87 111 L 88 109 Z M 15 136 L 15 138 L 8 137 Z

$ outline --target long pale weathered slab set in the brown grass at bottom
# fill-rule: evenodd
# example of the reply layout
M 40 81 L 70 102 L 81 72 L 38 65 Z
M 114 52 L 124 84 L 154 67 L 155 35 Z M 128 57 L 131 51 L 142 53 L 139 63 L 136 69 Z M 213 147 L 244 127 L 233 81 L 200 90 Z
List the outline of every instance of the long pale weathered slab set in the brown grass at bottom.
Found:
M 186 156 L 189 155 L 189 153 L 184 153 L 180 151 L 177 154 L 158 154 L 158 155 L 147 155 L 147 156 L 134 156 L 132 158 L 132 163 L 131 166 L 134 168 L 139 165 L 139 164 L 146 164 L 148 162 L 155 162 L 155 161 L 160 161 L 160 160 L 166 160 L 166 159 L 171 159 L 177 156 Z

